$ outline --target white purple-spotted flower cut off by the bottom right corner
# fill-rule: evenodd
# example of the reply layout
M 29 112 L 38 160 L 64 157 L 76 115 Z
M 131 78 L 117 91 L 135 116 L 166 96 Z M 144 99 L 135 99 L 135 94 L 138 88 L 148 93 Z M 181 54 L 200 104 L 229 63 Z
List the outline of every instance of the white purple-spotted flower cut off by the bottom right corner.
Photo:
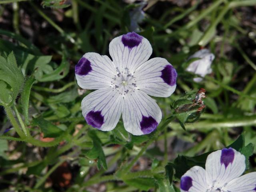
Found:
M 180 179 L 181 192 L 255 192 L 256 172 L 243 174 L 245 156 L 233 148 L 208 155 L 205 170 L 194 166 Z

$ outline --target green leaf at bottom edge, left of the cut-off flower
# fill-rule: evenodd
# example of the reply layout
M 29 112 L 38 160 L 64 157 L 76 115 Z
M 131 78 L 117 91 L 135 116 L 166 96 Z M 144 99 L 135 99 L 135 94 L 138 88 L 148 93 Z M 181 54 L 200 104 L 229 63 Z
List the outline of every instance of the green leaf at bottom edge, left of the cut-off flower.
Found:
M 124 182 L 130 186 L 136 187 L 144 191 L 148 191 L 151 188 L 156 187 L 155 181 L 152 178 L 127 179 L 127 180 L 124 180 Z

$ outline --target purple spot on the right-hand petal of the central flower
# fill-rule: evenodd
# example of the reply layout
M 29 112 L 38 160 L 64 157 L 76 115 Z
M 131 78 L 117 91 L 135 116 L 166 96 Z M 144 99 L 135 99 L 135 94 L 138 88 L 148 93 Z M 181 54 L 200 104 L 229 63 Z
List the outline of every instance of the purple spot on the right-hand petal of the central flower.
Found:
M 164 82 L 170 86 L 174 86 L 176 84 L 177 72 L 173 66 L 166 65 L 161 72 L 162 75 L 160 77 L 164 80 Z

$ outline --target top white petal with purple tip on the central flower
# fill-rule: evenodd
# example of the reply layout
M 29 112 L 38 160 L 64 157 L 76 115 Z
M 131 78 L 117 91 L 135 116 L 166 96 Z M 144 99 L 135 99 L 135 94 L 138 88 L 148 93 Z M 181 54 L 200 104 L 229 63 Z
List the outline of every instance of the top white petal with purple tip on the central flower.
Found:
M 134 72 L 148 60 L 152 47 L 146 38 L 132 32 L 114 38 L 109 44 L 109 54 L 118 70 Z

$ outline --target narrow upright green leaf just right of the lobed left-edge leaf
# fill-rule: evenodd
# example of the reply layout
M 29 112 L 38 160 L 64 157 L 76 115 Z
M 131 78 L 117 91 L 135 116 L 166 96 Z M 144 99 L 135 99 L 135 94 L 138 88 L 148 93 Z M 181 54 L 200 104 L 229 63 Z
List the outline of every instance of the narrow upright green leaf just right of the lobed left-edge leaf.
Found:
M 28 121 L 28 105 L 29 105 L 29 97 L 30 97 L 30 90 L 32 88 L 32 85 L 34 84 L 35 79 L 33 76 L 30 76 L 24 85 L 24 90 L 21 93 L 21 104 L 23 108 L 23 116 L 25 119 L 26 124 L 29 124 Z

